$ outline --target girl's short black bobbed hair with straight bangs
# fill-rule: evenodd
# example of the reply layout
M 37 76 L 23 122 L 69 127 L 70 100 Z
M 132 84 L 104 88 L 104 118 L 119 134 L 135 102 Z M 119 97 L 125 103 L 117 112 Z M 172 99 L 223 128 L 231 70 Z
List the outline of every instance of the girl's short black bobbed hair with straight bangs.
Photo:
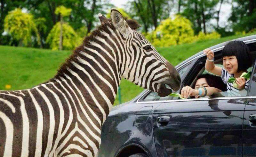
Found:
M 243 41 L 230 41 L 222 50 L 222 57 L 225 56 L 236 56 L 238 72 L 252 66 L 250 50 Z

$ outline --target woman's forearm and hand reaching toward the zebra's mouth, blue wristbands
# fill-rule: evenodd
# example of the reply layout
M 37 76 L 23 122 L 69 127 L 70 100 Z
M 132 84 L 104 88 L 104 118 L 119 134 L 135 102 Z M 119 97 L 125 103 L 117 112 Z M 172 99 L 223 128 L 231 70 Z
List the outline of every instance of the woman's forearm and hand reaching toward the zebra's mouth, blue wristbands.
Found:
M 220 89 L 217 89 L 215 87 L 205 87 L 205 89 L 207 90 L 207 94 L 206 96 L 211 96 L 212 94 L 215 93 L 220 93 L 222 92 Z M 205 94 L 205 91 L 203 88 L 201 88 L 202 90 L 202 96 Z M 199 95 L 199 90 L 198 89 L 193 89 L 189 86 L 185 86 L 181 89 L 181 96 L 188 98 L 188 96 L 198 96 Z

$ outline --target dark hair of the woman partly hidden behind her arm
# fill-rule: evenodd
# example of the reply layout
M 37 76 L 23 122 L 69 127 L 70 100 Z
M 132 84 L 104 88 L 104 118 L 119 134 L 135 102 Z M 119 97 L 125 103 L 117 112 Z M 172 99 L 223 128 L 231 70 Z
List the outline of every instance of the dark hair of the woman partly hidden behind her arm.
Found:
M 215 87 L 217 89 L 220 89 L 222 91 L 227 91 L 227 85 L 223 83 L 220 76 L 210 75 L 210 74 L 202 74 L 197 76 L 197 80 L 200 78 L 205 78 L 207 84 L 209 84 L 210 87 Z M 195 88 L 195 85 L 193 89 Z

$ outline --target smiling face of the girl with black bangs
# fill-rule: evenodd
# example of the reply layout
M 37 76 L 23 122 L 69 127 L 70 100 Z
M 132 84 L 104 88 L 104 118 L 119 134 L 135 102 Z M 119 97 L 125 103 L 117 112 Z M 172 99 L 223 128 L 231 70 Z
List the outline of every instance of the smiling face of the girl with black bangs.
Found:
M 228 74 L 235 74 L 238 69 L 236 56 L 225 56 L 223 59 L 223 66 L 228 71 Z

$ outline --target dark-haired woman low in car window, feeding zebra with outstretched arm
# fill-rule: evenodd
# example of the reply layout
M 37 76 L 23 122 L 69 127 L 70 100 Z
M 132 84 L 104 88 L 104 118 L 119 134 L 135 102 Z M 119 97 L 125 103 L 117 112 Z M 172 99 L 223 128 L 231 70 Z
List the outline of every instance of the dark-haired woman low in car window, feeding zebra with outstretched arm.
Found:
M 222 82 L 219 76 L 203 74 L 197 77 L 195 86 L 193 88 L 185 86 L 181 89 L 181 96 L 188 98 L 188 96 L 211 96 L 212 94 L 226 91 L 226 85 Z

